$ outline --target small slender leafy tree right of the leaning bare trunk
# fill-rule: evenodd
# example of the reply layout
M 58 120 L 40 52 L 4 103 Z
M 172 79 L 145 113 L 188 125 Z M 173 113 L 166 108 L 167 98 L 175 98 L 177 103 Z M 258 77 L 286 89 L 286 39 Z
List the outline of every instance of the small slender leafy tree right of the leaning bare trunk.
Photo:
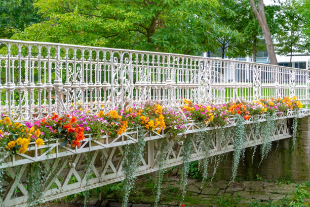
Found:
M 290 66 L 292 66 L 292 54 L 301 53 L 306 48 L 306 37 L 300 28 L 303 28 L 304 19 L 298 13 L 298 1 L 286 0 L 282 4 L 282 12 L 277 16 L 280 29 L 276 34 L 275 44 L 279 55 L 290 54 Z

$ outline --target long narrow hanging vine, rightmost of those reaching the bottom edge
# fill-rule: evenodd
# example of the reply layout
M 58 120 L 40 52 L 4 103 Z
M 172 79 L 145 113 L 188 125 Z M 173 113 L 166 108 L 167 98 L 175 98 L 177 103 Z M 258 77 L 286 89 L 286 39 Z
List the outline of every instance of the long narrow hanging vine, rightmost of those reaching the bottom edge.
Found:
M 187 186 L 187 177 L 188 177 L 188 172 L 189 172 L 189 159 L 190 159 L 190 152 L 191 152 L 191 138 L 192 134 L 187 136 L 187 138 L 184 140 L 184 145 L 183 145 L 183 164 L 182 164 L 182 174 L 181 174 L 181 191 L 182 191 L 182 198 L 181 202 L 184 199 L 184 196 L 186 194 L 186 186 Z

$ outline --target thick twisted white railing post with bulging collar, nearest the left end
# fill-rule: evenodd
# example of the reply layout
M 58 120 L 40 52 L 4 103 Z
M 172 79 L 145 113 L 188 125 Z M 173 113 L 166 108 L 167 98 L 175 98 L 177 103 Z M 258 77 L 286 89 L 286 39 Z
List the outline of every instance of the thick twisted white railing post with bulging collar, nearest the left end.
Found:
M 63 84 L 60 78 L 60 46 L 59 45 L 57 45 L 57 48 L 56 48 L 55 81 L 53 85 L 54 85 L 55 93 L 56 93 L 57 113 L 58 115 L 60 115 L 62 112 L 62 108 L 63 108 L 63 100 L 62 100 Z

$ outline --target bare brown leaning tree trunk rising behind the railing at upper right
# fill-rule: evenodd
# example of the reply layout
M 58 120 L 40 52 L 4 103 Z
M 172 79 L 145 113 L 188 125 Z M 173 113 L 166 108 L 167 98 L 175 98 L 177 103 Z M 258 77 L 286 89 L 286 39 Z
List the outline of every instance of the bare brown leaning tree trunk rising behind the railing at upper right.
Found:
M 257 1 L 258 10 L 256 8 L 254 0 L 250 0 L 250 3 L 251 3 L 253 13 L 254 13 L 254 15 L 255 15 L 260 27 L 261 27 L 261 30 L 263 32 L 266 47 L 267 47 L 268 56 L 270 59 L 270 63 L 272 65 L 278 65 L 273 40 L 272 40 L 272 37 L 270 34 L 270 29 L 267 25 L 267 20 L 266 20 L 266 16 L 265 16 L 265 9 L 264 9 L 264 2 L 263 2 L 263 0 Z

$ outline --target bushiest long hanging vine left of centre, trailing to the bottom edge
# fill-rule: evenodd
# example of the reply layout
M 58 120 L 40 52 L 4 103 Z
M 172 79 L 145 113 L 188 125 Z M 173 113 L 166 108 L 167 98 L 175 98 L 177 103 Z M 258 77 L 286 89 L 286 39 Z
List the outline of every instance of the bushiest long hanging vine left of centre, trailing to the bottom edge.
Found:
M 139 169 L 141 162 L 142 152 L 144 150 L 144 132 L 141 126 L 137 126 L 138 129 L 138 142 L 134 144 L 128 144 L 123 146 L 124 149 L 124 162 L 123 169 L 125 179 L 123 181 L 123 207 L 127 206 L 130 190 L 132 189 L 136 180 L 136 172 Z

